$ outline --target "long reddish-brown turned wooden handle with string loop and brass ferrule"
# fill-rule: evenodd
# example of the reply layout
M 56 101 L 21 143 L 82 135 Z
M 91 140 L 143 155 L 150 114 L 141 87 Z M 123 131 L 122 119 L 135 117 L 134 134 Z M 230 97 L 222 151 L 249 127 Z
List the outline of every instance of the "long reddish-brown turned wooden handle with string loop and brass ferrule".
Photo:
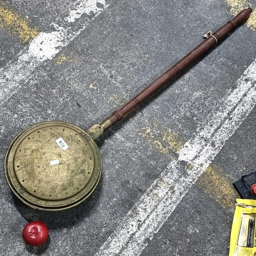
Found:
M 151 96 L 154 92 L 159 90 L 166 82 L 175 77 L 179 72 L 184 70 L 193 61 L 202 56 L 211 47 L 222 40 L 228 33 L 230 33 L 238 24 L 245 22 L 249 17 L 252 10 L 247 8 L 241 11 L 236 17 L 230 20 L 223 27 L 218 29 L 214 34 L 209 35 L 200 45 L 198 45 L 194 50 L 189 52 L 185 57 L 179 60 L 172 68 L 167 70 L 164 74 L 158 77 L 153 83 L 147 86 L 143 91 L 141 91 L 132 100 L 127 102 L 120 110 L 115 111 L 110 117 L 106 118 L 100 125 L 102 125 L 103 130 L 109 129 L 115 123 L 120 121 L 125 114 L 134 109 L 139 103 L 144 99 Z

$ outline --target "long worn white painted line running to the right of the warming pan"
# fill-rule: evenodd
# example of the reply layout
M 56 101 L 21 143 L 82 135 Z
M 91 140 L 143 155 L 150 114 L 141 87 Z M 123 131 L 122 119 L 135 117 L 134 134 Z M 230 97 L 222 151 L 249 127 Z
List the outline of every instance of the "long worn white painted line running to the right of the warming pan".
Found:
M 255 106 L 256 60 L 237 81 L 237 89 L 222 102 L 220 112 L 213 117 L 212 122 L 199 131 L 195 139 L 185 143 L 178 161 L 170 163 L 147 189 L 95 256 L 132 256 L 143 251 L 147 246 L 146 239 L 152 240 L 187 191 L 220 152 L 226 140 Z M 207 141 L 202 141 L 201 137 Z M 216 147 L 211 146 L 212 140 L 215 140 Z M 181 161 L 190 163 L 193 169 L 186 169 Z

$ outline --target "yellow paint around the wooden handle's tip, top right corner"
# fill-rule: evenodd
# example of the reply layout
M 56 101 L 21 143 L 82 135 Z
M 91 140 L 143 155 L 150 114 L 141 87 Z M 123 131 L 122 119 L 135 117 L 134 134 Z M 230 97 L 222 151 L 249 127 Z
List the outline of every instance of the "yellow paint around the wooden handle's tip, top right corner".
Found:
M 252 7 L 252 5 L 245 0 L 226 0 L 226 1 L 228 6 L 230 6 L 229 12 L 234 16 L 237 15 L 243 9 Z M 252 13 L 250 14 L 250 17 L 246 22 L 246 25 L 253 31 L 256 30 L 256 10 L 252 11 Z

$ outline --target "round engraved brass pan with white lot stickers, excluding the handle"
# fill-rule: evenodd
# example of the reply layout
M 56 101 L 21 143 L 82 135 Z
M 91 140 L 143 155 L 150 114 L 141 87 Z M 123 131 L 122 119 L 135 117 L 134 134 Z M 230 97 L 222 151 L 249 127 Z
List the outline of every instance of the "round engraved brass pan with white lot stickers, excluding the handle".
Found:
M 28 127 L 13 139 L 5 157 L 5 176 L 13 193 L 41 210 L 64 210 L 86 200 L 101 171 L 93 138 L 60 121 Z

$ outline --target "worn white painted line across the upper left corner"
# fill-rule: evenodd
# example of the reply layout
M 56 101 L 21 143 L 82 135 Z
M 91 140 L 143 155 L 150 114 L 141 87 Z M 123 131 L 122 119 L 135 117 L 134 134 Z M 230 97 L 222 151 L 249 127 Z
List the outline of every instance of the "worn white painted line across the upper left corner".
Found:
M 83 0 L 75 3 L 77 8 L 71 10 L 66 21 L 68 23 L 75 22 L 82 14 L 86 13 L 93 18 L 97 17 L 104 11 L 108 5 L 105 0 Z M 79 15 L 78 15 L 79 13 Z M 22 87 L 33 74 L 36 67 L 44 61 L 52 59 L 61 49 L 69 44 L 77 35 L 83 31 L 90 20 L 85 23 L 78 31 L 73 31 L 72 27 L 63 28 L 56 24 L 52 24 L 56 31 L 50 33 L 39 33 L 25 48 L 17 55 L 17 61 L 10 61 L 4 68 L 0 69 L 0 102 L 8 99 L 18 88 Z M 0 103 L 0 104 L 3 104 Z

